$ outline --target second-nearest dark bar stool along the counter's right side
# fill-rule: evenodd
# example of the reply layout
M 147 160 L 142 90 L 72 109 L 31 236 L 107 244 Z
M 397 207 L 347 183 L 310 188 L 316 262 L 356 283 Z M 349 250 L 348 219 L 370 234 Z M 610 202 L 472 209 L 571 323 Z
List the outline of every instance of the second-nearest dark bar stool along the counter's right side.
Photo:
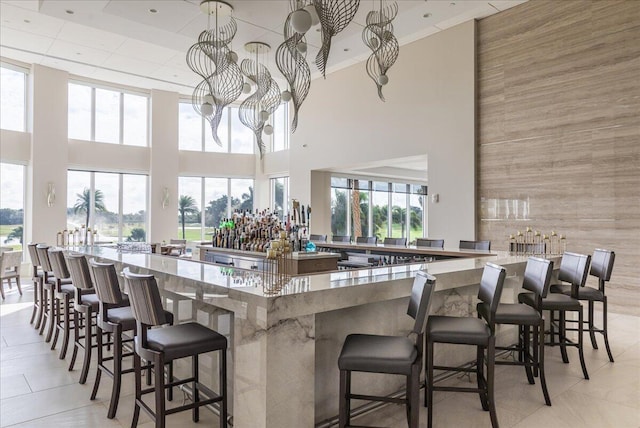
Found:
M 491 426 L 498 426 L 496 405 L 494 399 L 494 364 L 495 364 L 495 315 L 498 302 L 502 295 L 506 272 L 502 266 L 487 263 L 482 272 L 478 299 L 488 307 L 488 322 L 480 318 L 431 316 L 427 321 L 427 352 L 426 352 L 426 391 L 425 406 L 428 407 L 428 424 L 433 426 L 433 391 L 475 392 L 480 395 L 482 408 L 488 410 Z M 436 366 L 433 363 L 433 345 L 435 343 L 449 343 L 456 345 L 472 345 L 477 347 L 476 368 Z M 487 376 L 484 376 L 484 350 L 487 351 Z M 463 388 L 453 386 L 435 386 L 434 370 L 454 372 L 475 372 L 478 378 L 477 388 Z

